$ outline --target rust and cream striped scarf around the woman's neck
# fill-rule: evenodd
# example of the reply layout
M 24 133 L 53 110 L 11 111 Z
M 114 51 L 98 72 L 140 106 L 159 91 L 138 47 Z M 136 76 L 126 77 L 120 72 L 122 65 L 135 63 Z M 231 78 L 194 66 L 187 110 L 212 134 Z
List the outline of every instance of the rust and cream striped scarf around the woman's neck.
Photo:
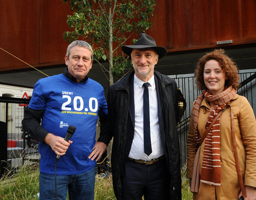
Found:
M 201 135 L 198 132 L 198 116 L 201 102 L 204 97 L 211 103 L 209 115 L 205 125 L 205 130 L 211 124 L 214 116 L 225 109 L 226 104 L 234 98 L 237 90 L 232 86 L 225 88 L 225 90 L 217 95 L 212 95 L 210 91 L 203 91 L 195 100 L 194 109 L 192 113 L 193 129 L 195 133 L 195 140 L 197 146 L 201 142 Z M 221 116 L 220 116 L 221 117 Z M 220 117 L 212 126 L 205 138 L 203 163 L 201 171 L 201 182 L 220 186 L 221 183 L 221 162 L 220 162 Z

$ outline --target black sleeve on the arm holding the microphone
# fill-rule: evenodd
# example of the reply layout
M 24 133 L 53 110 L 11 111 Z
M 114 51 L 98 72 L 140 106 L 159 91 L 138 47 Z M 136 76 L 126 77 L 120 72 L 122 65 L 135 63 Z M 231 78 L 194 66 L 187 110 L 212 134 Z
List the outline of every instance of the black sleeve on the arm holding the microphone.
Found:
M 22 120 L 22 127 L 28 131 L 32 137 L 39 142 L 43 142 L 45 136 L 49 133 L 41 125 L 44 110 L 35 110 L 29 107 L 24 109 L 24 118 Z

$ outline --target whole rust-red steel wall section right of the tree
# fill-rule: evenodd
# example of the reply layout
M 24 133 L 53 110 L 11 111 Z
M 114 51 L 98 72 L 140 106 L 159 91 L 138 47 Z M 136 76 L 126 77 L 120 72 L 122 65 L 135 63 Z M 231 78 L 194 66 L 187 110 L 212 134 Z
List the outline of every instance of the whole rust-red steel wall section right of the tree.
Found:
M 255 0 L 157 0 L 147 31 L 169 51 L 256 42 Z

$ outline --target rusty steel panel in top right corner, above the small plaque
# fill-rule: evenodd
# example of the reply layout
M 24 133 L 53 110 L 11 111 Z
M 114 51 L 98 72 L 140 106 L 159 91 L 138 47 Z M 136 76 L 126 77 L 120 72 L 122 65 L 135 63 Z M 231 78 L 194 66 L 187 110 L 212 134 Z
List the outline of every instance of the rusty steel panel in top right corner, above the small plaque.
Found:
M 252 42 L 256 39 L 255 0 L 212 0 L 211 44 L 233 40 L 233 43 Z

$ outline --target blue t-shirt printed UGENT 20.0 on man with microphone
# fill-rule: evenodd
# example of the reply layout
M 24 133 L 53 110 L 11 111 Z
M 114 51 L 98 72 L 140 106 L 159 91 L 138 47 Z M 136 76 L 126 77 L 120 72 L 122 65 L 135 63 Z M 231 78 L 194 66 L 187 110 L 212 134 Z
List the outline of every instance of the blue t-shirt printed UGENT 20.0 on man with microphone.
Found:
M 68 126 L 76 127 L 70 139 L 73 143 L 57 163 L 58 175 L 84 173 L 95 166 L 88 156 L 95 145 L 98 115 L 107 115 L 104 90 L 98 82 L 90 78 L 85 83 L 72 82 L 63 74 L 39 79 L 28 107 L 44 110 L 42 126 L 54 135 L 65 138 Z M 54 174 L 57 155 L 42 142 L 39 153 L 40 172 Z

